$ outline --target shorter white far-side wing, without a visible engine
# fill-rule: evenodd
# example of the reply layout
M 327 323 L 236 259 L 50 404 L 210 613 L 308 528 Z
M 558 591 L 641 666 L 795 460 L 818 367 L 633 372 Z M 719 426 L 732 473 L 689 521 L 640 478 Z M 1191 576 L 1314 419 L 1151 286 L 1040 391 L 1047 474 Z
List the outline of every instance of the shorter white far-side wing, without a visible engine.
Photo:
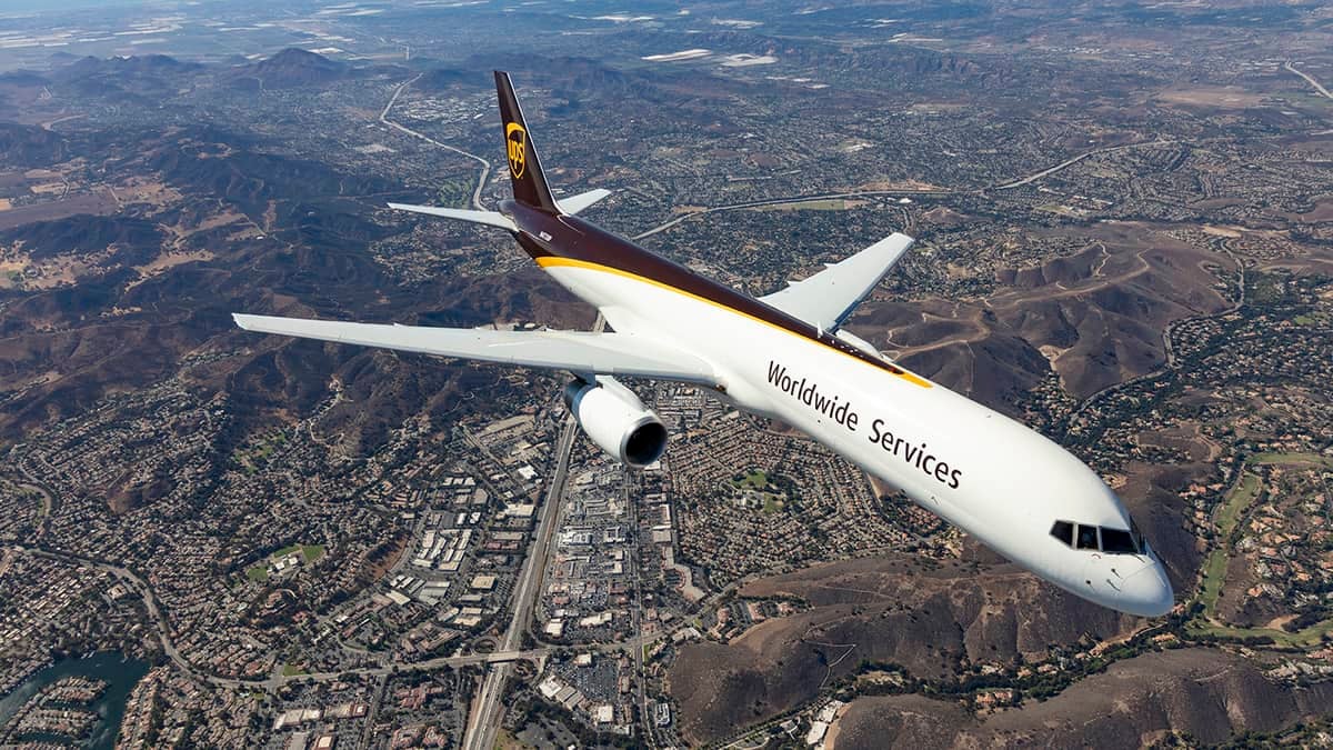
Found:
M 894 232 L 846 260 L 760 299 L 825 331 L 836 330 L 913 242 Z

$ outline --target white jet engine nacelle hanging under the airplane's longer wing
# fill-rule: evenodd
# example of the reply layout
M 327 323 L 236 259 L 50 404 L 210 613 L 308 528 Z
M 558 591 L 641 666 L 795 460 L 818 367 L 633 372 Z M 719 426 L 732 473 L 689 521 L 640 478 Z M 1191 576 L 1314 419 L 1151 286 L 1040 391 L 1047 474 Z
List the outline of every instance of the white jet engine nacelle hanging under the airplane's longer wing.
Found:
M 615 380 L 569 383 L 565 406 L 599 448 L 627 466 L 643 468 L 666 450 L 666 426 Z

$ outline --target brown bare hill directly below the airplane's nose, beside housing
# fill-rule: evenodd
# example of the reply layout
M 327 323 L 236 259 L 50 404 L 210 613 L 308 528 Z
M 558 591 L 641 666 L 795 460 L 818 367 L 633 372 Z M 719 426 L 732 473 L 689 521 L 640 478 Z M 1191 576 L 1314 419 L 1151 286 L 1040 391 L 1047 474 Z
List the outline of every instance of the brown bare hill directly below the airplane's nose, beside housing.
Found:
M 844 560 L 745 586 L 746 597 L 797 597 L 812 609 L 726 645 L 680 650 L 668 686 L 681 730 L 709 742 L 813 699 L 862 661 L 925 679 L 962 662 L 1045 658 L 1052 646 L 1132 625 L 1008 565 L 933 563 L 910 555 Z

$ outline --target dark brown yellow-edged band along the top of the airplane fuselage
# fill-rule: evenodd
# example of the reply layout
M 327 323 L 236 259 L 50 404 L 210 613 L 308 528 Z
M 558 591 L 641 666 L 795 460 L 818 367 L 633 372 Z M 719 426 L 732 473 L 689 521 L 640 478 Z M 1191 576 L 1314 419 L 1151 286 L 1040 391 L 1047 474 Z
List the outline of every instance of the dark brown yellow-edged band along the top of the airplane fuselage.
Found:
M 520 230 L 519 244 L 539 263 L 543 258 L 560 258 L 635 276 L 821 343 L 924 388 L 930 387 L 930 382 L 925 378 L 870 356 L 832 334 L 820 331 L 804 320 L 752 296 L 742 295 L 728 286 L 705 279 L 681 264 L 607 232 L 596 224 L 576 216 L 552 216 L 512 200 L 505 200 L 501 204 L 501 211 L 513 218 Z

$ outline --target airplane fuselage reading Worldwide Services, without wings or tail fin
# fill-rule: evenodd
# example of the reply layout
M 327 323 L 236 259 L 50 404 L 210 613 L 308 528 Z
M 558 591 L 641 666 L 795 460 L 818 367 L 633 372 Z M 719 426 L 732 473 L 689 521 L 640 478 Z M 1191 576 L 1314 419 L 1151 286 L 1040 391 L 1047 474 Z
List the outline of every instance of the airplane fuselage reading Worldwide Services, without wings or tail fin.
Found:
M 572 216 L 507 202 L 519 242 L 619 332 L 717 368 L 717 392 L 790 424 L 1022 567 L 1137 615 L 1172 607 L 1165 569 L 1097 474 L 1033 430 Z M 1108 530 L 1105 547 L 1057 539 L 1057 520 Z M 1073 534 L 1073 532 L 1072 532 Z M 1096 532 L 1094 532 L 1096 534 Z

